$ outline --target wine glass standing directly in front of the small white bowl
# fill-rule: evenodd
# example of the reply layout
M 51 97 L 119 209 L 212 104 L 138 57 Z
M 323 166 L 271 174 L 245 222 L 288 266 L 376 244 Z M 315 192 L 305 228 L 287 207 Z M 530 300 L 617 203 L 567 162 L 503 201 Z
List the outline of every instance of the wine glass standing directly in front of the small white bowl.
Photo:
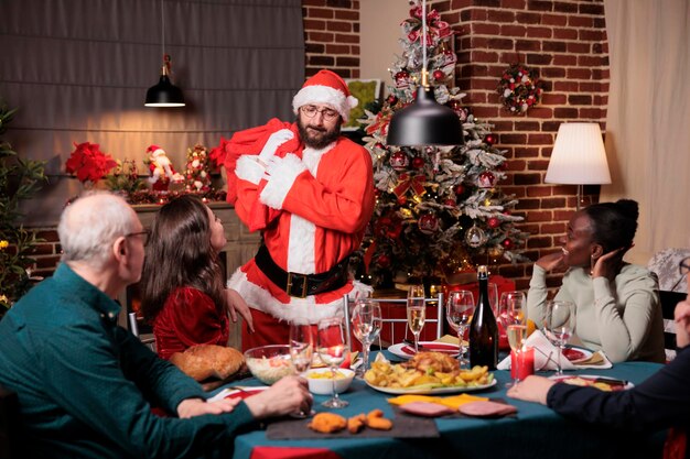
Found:
M 349 403 L 341 400 L 335 392 L 336 369 L 349 354 L 343 318 L 330 317 L 319 320 L 317 335 L 319 357 L 331 369 L 331 378 L 333 379 L 333 396 L 323 402 L 322 405 L 328 408 L 345 407 Z

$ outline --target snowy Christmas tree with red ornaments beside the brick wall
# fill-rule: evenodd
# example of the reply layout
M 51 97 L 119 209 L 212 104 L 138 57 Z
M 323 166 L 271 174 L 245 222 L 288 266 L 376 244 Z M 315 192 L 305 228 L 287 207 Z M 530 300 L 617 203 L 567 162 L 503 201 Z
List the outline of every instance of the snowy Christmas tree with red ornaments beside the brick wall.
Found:
M 378 113 L 365 111 L 364 142 L 374 162 L 376 209 L 359 252 L 357 276 L 374 285 L 388 280 L 459 274 L 477 264 L 518 261 L 527 234 L 515 227 L 517 200 L 497 188 L 505 178 L 505 152 L 494 146 L 490 124 L 463 107 L 457 88 L 446 86 L 455 68 L 453 32 L 436 11 L 427 14 L 427 68 L 436 101 L 451 107 L 461 121 L 460 146 L 391 146 L 386 144 L 392 114 L 413 101 L 421 81 L 422 9 L 412 2 L 402 22 L 402 55 L 390 68 L 395 85 Z

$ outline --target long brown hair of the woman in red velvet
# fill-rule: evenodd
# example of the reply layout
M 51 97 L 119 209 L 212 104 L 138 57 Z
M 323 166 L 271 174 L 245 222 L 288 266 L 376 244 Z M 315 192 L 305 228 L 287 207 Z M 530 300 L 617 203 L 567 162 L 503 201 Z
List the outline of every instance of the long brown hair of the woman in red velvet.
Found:
M 196 196 L 180 196 L 159 210 L 147 245 L 141 286 L 141 310 L 149 321 L 182 286 L 204 292 L 219 312 L 225 310 L 223 266 L 211 245 L 208 211 Z

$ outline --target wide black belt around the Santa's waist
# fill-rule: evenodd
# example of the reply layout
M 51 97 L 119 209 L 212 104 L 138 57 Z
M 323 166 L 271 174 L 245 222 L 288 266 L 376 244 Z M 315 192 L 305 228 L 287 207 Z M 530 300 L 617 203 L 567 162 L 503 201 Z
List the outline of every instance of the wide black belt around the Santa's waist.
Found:
M 266 245 L 259 248 L 254 260 L 259 270 L 290 296 L 304 298 L 309 295 L 337 289 L 347 283 L 349 256 L 345 256 L 325 273 L 317 274 L 290 273 L 283 270 L 276 264 Z

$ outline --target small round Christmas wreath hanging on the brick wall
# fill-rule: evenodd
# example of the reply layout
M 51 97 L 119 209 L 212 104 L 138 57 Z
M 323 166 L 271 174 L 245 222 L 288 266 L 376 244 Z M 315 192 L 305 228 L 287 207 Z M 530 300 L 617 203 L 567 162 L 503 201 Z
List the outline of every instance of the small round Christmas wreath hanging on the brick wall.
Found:
M 537 70 L 524 64 L 513 64 L 504 70 L 497 92 L 506 110 L 525 114 L 541 100 L 543 84 Z

